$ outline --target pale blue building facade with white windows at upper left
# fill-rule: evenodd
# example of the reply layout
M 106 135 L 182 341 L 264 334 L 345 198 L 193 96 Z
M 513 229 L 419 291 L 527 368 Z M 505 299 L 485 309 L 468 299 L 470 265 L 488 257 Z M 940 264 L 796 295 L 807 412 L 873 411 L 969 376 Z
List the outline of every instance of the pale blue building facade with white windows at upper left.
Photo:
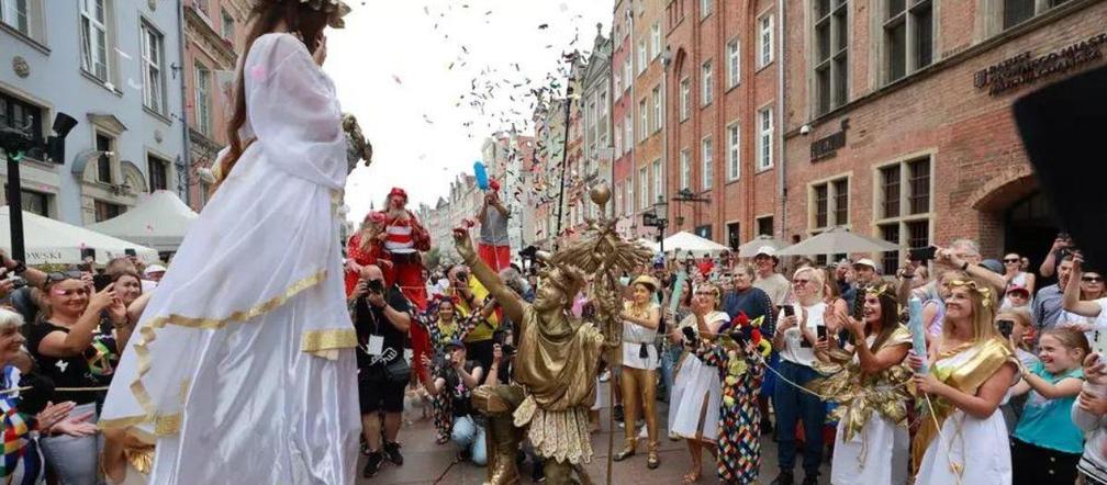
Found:
M 0 124 L 42 138 L 58 113 L 79 122 L 63 164 L 22 162 L 23 209 L 84 225 L 155 189 L 184 198 L 178 3 L 46 3 L 0 2 Z

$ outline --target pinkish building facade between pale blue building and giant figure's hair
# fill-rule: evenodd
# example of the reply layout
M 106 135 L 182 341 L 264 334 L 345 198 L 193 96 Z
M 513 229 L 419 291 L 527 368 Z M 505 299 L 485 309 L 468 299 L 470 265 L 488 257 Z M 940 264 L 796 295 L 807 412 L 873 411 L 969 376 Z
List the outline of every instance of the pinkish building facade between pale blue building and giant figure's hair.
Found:
M 227 145 L 230 94 L 234 92 L 238 52 L 246 40 L 248 0 L 185 1 L 185 113 L 188 120 L 189 169 L 182 183 L 188 205 L 199 210 L 210 187 L 197 171 L 210 167 Z

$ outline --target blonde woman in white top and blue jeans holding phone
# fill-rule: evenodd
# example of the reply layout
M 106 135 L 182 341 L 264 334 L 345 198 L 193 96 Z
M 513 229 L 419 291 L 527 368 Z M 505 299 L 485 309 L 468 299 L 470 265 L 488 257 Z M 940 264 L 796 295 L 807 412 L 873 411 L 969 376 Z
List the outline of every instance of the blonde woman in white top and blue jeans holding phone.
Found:
M 777 319 L 773 349 L 780 353 L 779 372 L 784 379 L 804 385 L 819 376 L 815 364 L 815 343 L 823 327 L 827 303 L 823 301 L 824 272 L 809 266 L 796 270 L 792 290 L 796 306 L 785 306 Z M 801 389 L 777 382 L 773 405 L 776 407 L 777 460 L 780 473 L 776 482 L 782 485 L 795 482 L 796 423 L 804 424 L 804 483 L 818 482 L 823 463 L 823 425 L 826 422 L 826 403 Z

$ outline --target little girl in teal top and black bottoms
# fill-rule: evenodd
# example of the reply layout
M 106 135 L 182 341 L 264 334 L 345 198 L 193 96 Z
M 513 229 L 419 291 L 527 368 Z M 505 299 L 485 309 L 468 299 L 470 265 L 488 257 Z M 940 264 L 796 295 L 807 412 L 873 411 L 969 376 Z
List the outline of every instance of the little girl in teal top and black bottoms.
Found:
M 1080 362 L 1090 353 L 1084 333 L 1054 328 L 1038 340 L 1041 363 L 1022 367 L 1014 395 L 1031 391 L 1012 438 L 1015 485 L 1074 483 L 1084 451 L 1084 433 L 1069 416 L 1084 385 Z

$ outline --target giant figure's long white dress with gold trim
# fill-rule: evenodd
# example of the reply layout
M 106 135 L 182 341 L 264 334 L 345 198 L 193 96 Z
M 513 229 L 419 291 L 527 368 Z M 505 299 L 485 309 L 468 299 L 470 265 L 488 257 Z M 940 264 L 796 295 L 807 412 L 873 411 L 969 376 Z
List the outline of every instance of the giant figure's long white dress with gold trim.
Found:
M 352 484 L 361 423 L 334 85 L 289 34 L 258 38 L 242 69 L 244 141 L 257 141 L 154 292 L 100 424 L 156 445 L 151 484 Z

